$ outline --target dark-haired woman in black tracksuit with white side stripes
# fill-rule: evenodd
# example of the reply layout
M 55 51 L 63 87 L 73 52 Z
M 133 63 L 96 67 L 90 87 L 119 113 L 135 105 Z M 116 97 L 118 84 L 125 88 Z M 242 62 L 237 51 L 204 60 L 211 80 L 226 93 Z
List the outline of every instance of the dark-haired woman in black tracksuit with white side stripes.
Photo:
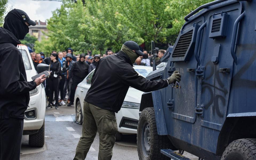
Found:
M 58 61 L 58 54 L 52 53 L 49 77 L 49 104 L 46 108 L 53 108 L 53 92 L 55 96 L 55 109 L 59 109 L 59 76 L 61 74 L 61 62 Z

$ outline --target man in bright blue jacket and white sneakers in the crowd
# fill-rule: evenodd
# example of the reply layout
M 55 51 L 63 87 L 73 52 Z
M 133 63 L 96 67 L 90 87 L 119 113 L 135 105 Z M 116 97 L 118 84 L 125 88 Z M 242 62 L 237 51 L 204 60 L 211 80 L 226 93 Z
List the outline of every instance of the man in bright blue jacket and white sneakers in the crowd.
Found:
M 60 74 L 60 82 L 59 82 L 59 90 L 60 90 L 60 94 L 61 94 L 61 99 L 59 100 L 59 103 L 61 105 L 66 105 L 64 102 L 64 93 L 63 93 L 63 89 L 64 89 L 64 84 L 65 84 L 65 72 L 66 72 L 66 58 L 63 57 L 63 53 L 62 52 L 58 52 L 58 60 L 59 62 L 61 62 L 61 74 Z

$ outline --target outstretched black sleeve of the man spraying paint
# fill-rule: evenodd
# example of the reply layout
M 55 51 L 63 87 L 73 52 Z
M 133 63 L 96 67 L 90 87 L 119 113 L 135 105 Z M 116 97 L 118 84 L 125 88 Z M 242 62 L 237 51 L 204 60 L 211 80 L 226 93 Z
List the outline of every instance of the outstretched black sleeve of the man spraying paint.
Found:
M 124 83 L 142 92 L 151 92 L 168 86 L 166 79 L 149 81 L 146 78 L 140 76 L 132 66 L 124 68 L 120 75 Z

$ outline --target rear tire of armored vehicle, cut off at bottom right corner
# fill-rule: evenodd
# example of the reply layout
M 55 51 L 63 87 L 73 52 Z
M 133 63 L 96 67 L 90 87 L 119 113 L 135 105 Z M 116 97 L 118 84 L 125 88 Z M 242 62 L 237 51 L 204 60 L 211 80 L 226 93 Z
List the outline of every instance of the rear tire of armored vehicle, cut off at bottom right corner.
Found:
M 221 160 L 255 160 L 256 139 L 244 138 L 231 142 L 222 154 Z

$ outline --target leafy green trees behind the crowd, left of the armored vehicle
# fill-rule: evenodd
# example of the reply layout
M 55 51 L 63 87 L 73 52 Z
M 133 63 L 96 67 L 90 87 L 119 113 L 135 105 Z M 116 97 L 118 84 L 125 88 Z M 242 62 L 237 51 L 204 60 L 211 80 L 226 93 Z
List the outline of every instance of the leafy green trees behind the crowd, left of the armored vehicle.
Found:
M 63 1 L 48 21 L 48 39 L 36 43 L 37 52 L 66 50 L 76 53 L 107 48 L 117 52 L 127 40 L 174 44 L 184 16 L 213 0 L 78 0 Z M 47 50 L 47 51 L 46 51 Z M 94 54 L 94 53 L 93 53 Z

